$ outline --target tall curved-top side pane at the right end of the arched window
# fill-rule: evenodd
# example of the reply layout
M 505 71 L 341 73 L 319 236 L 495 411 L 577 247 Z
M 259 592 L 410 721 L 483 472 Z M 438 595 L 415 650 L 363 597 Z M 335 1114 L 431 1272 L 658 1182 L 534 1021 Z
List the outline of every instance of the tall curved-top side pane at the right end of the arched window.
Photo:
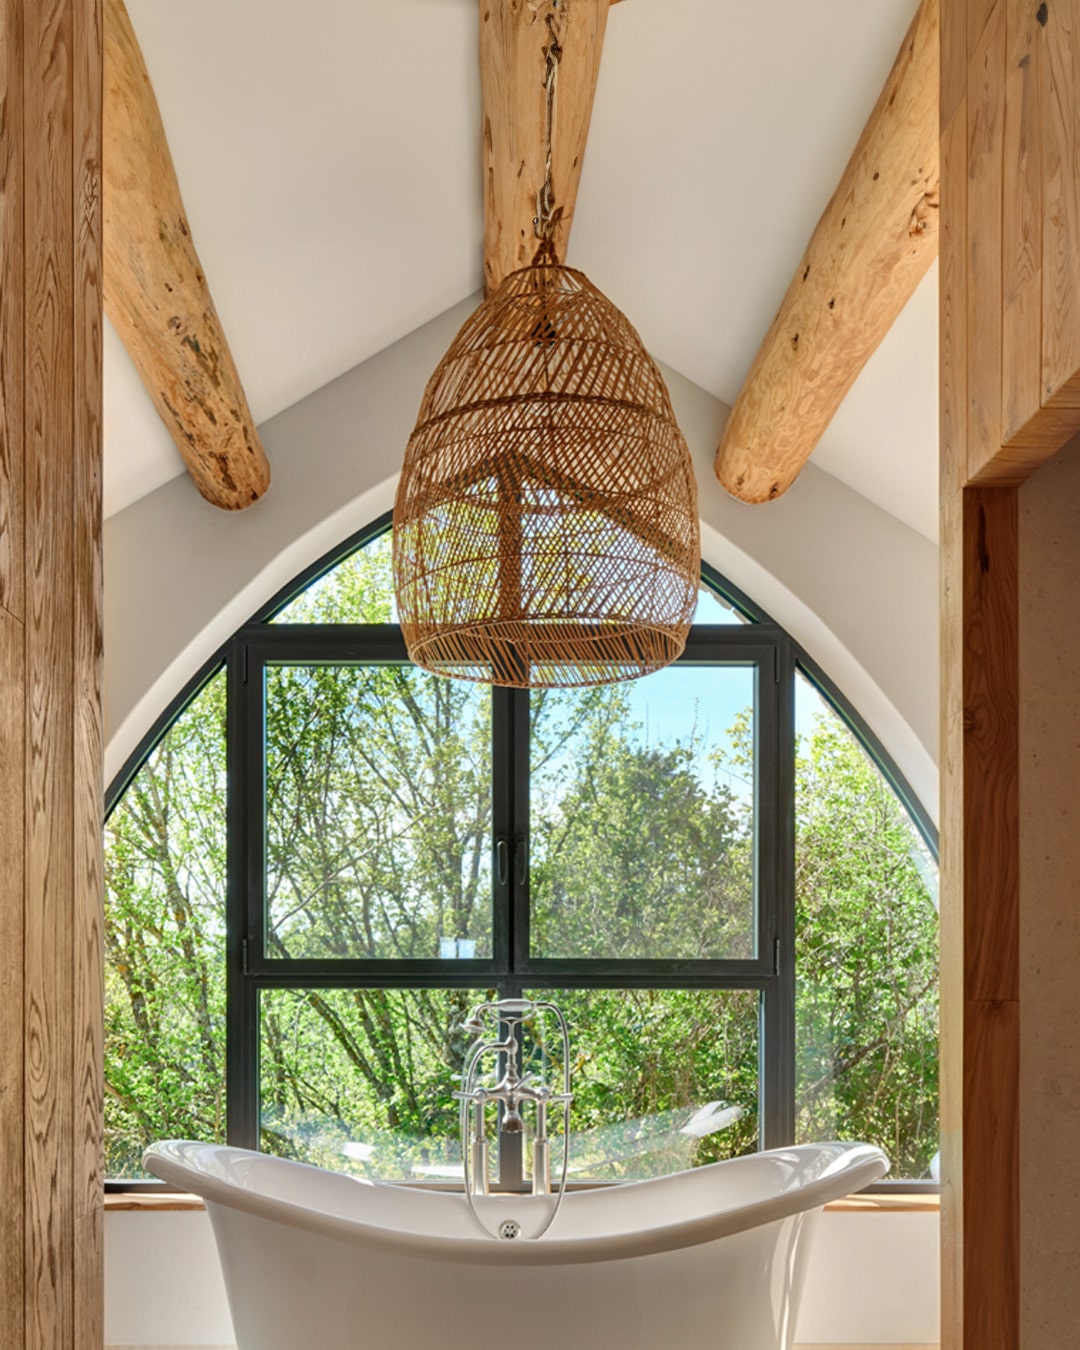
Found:
M 937 869 L 850 730 L 796 686 L 799 1141 L 863 1139 L 892 1177 L 938 1149 Z

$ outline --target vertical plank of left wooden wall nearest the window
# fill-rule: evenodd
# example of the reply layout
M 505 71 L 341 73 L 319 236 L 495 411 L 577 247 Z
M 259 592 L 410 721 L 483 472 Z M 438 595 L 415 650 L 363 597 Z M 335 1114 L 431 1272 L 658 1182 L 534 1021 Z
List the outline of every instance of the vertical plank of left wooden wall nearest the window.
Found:
M 104 1245 L 104 819 L 101 576 L 101 103 L 103 7 L 74 0 L 74 1350 L 105 1341 Z

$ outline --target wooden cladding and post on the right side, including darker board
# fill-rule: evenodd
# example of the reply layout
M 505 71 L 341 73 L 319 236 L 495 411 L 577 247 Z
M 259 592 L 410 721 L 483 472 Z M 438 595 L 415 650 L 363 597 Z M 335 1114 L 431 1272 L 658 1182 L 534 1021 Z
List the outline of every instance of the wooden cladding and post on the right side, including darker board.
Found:
M 941 32 L 942 1350 L 1018 1350 L 1046 1241 L 1019 1162 L 1046 1010 L 1021 980 L 1018 485 L 1080 427 L 1080 23 L 942 0 Z

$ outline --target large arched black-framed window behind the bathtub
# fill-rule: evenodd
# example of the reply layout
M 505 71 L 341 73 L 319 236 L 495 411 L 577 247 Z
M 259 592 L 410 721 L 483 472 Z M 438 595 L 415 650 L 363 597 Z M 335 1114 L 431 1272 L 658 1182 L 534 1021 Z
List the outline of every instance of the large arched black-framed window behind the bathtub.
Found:
M 431 676 L 387 525 L 238 632 L 113 784 L 109 1176 L 177 1135 L 460 1176 L 460 1023 L 493 994 L 568 1015 L 575 1179 L 826 1135 L 926 1176 L 934 841 L 838 694 L 707 568 L 647 679 Z

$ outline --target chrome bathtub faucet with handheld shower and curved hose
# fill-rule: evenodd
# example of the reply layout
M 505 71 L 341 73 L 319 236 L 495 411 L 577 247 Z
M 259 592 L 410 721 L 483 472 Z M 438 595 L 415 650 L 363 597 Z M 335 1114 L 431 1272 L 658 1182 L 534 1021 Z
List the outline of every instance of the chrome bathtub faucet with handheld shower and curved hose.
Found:
M 555 1091 L 549 1083 L 535 1073 L 522 1073 L 522 1041 L 518 1029 L 522 1022 L 537 1015 L 554 1017 L 559 1025 L 563 1057 L 562 1091 Z M 494 1033 L 491 1034 L 493 1023 Z M 500 1107 L 498 1127 L 502 1134 L 522 1134 L 525 1119 L 521 1115 L 521 1107 L 532 1110 L 535 1116 L 532 1193 L 535 1196 L 552 1195 L 548 1111 L 551 1107 L 563 1108 L 563 1166 L 555 1207 L 541 1230 L 545 1233 L 559 1212 L 570 1162 L 570 1103 L 574 1100 L 574 1095 L 570 1091 L 570 1034 L 566 1018 L 554 1003 L 535 999 L 498 999 L 497 1002 L 479 1003 L 473 1008 L 462 1023 L 462 1029 L 477 1038 L 466 1054 L 462 1088 L 454 1094 L 462 1104 L 464 1193 L 474 1218 L 490 1237 L 495 1237 L 495 1234 L 483 1223 L 474 1206 L 474 1196 L 487 1195 L 489 1191 L 489 1104 L 495 1103 Z M 489 1081 L 485 1083 L 482 1075 L 490 1056 L 495 1057 L 495 1064 Z M 491 1077 L 494 1081 L 490 1081 Z

